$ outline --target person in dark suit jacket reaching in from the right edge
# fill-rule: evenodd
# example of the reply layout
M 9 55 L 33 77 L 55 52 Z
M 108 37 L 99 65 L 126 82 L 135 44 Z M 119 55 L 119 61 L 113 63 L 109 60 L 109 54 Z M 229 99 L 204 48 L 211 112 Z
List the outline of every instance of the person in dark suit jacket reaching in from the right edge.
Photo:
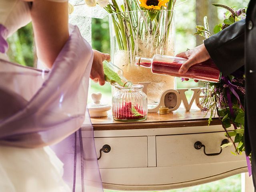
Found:
M 179 73 L 184 74 L 192 65 L 212 58 L 223 75 L 245 68 L 245 148 L 246 155 L 252 152 L 252 178 L 256 192 L 256 0 L 250 0 L 246 19 L 230 25 L 204 44 L 178 57 L 188 58 Z

